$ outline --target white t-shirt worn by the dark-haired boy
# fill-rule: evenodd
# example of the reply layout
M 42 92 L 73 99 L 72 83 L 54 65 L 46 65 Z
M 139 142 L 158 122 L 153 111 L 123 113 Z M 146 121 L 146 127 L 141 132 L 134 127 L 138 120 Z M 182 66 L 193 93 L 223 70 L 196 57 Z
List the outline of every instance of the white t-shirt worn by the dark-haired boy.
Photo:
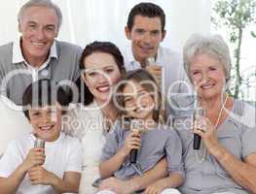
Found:
M 33 134 L 26 134 L 10 143 L 0 160 L 0 177 L 8 178 L 25 159 L 34 146 Z M 60 133 L 55 142 L 46 142 L 46 161 L 43 167 L 58 178 L 65 172 L 82 172 L 82 147 L 78 139 Z M 32 185 L 28 175 L 18 186 L 17 194 L 54 194 L 50 185 Z

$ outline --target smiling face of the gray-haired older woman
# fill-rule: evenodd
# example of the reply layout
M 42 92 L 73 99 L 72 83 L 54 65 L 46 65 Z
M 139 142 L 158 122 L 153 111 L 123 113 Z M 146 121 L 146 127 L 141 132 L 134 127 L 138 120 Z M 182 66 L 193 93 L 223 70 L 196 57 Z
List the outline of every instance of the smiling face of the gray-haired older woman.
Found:
M 208 54 L 197 54 L 193 58 L 189 76 L 202 99 L 219 97 L 226 83 L 220 60 Z

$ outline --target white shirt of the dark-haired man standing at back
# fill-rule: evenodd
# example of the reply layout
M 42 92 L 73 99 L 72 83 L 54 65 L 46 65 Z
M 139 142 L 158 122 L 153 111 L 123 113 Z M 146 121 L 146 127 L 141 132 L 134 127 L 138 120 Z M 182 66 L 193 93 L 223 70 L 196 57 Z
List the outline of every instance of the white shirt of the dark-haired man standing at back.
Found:
M 126 70 L 135 70 L 141 68 L 138 61 L 135 60 L 131 46 L 124 52 Z M 160 47 L 158 49 L 156 65 L 163 67 L 162 69 L 162 92 L 167 95 L 169 89 L 174 92 L 179 92 L 181 89 L 177 86 L 175 81 L 188 81 L 186 73 L 183 68 L 182 56 L 180 53 L 174 52 L 170 49 Z M 174 87 L 174 84 L 176 85 Z

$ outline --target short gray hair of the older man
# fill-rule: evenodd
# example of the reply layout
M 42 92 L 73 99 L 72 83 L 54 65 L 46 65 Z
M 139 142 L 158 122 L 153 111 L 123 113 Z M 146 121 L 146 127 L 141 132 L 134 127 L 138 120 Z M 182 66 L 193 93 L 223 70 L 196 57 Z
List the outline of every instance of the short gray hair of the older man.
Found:
M 24 12 L 30 7 L 47 7 L 54 9 L 57 16 L 57 30 L 59 30 L 62 24 L 62 14 L 59 7 L 56 6 L 51 0 L 29 0 L 26 2 L 18 11 L 18 23 L 20 23 Z

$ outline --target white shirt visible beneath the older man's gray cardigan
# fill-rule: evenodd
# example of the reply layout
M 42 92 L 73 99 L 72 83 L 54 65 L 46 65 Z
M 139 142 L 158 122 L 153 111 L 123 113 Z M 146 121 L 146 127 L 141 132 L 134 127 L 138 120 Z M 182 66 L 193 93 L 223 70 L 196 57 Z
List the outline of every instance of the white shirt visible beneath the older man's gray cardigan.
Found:
M 56 58 L 57 59 L 57 53 L 56 53 L 56 45 L 55 42 L 53 46 L 50 49 L 50 54 L 46 60 L 39 68 L 33 67 L 31 64 L 29 64 L 23 57 L 22 51 L 21 51 L 21 44 L 20 44 L 20 39 L 17 39 L 14 41 L 14 47 L 13 47 L 13 63 L 21 63 L 23 62 L 28 70 L 31 72 L 32 75 L 32 80 L 37 81 L 38 80 L 38 73 L 41 70 L 44 70 L 48 64 L 50 63 L 51 58 Z

